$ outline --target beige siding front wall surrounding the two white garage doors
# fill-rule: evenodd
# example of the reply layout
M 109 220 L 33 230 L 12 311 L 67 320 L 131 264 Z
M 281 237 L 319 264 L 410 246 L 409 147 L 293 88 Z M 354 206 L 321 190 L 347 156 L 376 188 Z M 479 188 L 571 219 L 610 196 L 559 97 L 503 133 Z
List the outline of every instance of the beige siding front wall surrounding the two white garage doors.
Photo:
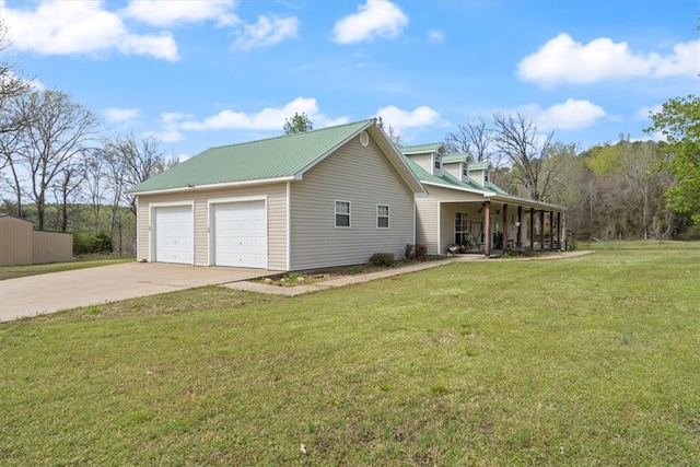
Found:
M 151 203 L 194 202 L 195 266 L 210 266 L 210 200 L 245 197 L 266 197 L 268 232 L 268 269 L 284 270 L 287 265 L 287 186 L 283 183 L 255 185 L 215 190 L 141 195 L 138 203 L 137 245 L 138 260 L 150 260 L 150 206 Z

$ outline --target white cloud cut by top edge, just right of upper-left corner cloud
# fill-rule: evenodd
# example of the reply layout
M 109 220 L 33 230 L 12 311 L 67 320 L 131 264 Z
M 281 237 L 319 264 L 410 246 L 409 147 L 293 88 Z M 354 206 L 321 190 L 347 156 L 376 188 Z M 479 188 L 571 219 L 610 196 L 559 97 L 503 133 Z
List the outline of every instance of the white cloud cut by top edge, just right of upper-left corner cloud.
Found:
M 153 26 L 174 26 L 212 20 L 220 26 L 238 23 L 234 0 L 132 0 L 122 10 L 127 17 Z

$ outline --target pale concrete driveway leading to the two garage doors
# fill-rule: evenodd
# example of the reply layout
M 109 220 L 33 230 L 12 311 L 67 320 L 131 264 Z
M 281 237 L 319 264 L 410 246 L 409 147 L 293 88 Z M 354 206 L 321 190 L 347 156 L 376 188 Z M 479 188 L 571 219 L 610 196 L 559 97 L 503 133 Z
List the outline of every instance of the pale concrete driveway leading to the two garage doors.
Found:
M 126 262 L 0 281 L 0 322 L 279 273 L 262 269 Z

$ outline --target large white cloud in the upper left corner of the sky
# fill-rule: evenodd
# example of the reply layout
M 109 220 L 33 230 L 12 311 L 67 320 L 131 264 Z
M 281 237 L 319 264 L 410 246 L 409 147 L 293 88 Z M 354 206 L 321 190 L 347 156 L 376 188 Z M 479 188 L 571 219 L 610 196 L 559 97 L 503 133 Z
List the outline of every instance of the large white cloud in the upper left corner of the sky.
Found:
M 43 1 L 34 10 L 3 5 L 2 13 L 8 37 L 20 50 L 68 55 L 116 49 L 126 55 L 178 59 L 170 33 L 131 34 L 117 14 L 102 9 L 102 2 Z

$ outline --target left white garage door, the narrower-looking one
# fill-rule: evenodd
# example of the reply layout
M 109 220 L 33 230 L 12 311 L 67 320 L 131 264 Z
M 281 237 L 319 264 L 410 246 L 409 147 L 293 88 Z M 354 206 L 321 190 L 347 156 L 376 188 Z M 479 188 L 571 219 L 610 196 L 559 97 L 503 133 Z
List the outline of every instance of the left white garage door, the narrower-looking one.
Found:
M 195 250 L 191 206 L 155 208 L 153 215 L 155 261 L 191 265 Z

